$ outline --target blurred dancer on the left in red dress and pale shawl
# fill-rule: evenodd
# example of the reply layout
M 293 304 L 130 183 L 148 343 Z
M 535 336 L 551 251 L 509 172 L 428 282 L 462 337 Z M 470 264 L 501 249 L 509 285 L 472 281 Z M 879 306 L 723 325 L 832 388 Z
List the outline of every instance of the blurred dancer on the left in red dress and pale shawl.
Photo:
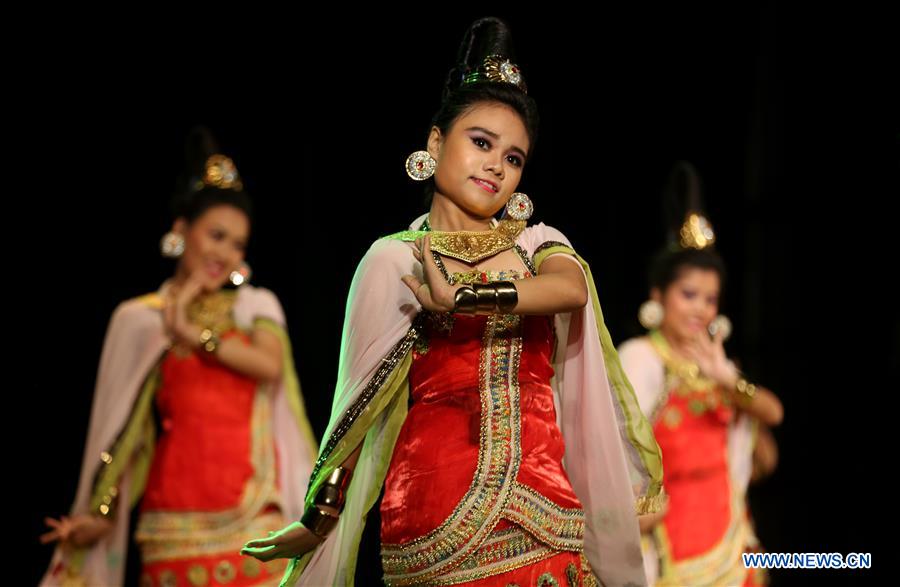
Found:
M 43 541 L 59 546 L 44 586 L 122 585 L 136 504 L 142 585 L 282 574 L 239 550 L 300 515 L 317 447 L 281 306 L 243 283 L 250 200 L 206 133 L 190 144 L 200 168 L 162 243 L 178 266 L 112 316 L 77 497 L 69 516 L 47 520 Z M 222 289 L 229 277 L 243 284 Z

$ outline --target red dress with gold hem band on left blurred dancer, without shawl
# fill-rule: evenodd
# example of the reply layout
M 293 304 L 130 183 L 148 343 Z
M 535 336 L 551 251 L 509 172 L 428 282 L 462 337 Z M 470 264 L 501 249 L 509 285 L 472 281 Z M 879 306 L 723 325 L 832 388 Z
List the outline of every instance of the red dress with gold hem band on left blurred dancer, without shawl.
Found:
M 136 533 L 141 586 L 277 585 L 283 561 L 238 554 L 284 525 L 268 394 L 198 353 L 170 351 L 160 376 L 159 439 Z

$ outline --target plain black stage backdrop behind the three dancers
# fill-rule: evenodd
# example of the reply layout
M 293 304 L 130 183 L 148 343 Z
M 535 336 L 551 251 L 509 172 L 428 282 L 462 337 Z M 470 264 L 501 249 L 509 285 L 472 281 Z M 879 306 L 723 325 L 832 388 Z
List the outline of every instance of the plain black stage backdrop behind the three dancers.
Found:
M 666 175 L 695 163 L 730 272 L 729 353 L 786 409 L 779 469 L 751 490 L 762 542 L 874 555 L 871 570 L 777 571 L 775 583 L 874 579 L 890 560 L 873 530 L 894 509 L 878 415 L 900 353 L 887 285 L 897 247 L 880 208 L 898 193 L 895 47 L 862 12 L 597 10 L 505 15 L 543 119 L 520 186 L 533 220 L 591 262 L 621 342 L 640 331 Z M 172 270 L 158 241 L 195 124 L 215 132 L 254 197 L 253 282 L 284 305 L 323 432 L 350 279 L 374 239 L 425 211 L 403 162 L 424 146 L 477 15 L 346 16 L 271 17 L 240 35 L 199 21 L 60 24 L 38 37 L 47 57 L 11 65 L 6 474 L 21 584 L 49 559 L 44 516 L 74 497 L 110 313 Z M 377 522 L 360 584 L 380 577 Z

